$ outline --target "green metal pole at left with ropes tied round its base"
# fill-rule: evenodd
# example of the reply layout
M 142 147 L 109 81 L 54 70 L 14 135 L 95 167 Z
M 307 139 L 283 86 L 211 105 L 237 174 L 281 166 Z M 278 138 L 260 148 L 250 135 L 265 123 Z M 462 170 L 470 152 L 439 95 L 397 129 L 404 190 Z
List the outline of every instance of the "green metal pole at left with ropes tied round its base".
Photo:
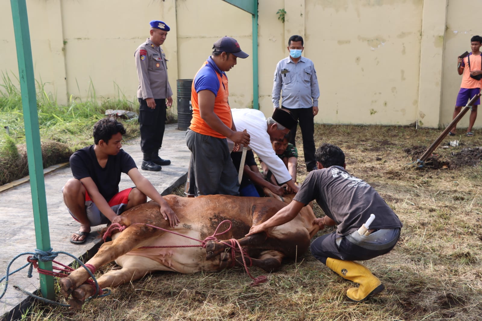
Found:
M 28 172 L 32 192 L 33 218 L 37 248 L 49 251 L 50 234 L 43 180 L 42 150 L 40 147 L 39 115 L 35 94 L 32 48 L 28 29 L 26 0 L 10 0 L 12 5 L 13 30 L 17 49 L 18 75 L 24 111 L 25 138 L 27 141 Z M 52 262 L 40 262 L 39 267 L 52 271 Z M 40 292 L 43 297 L 55 298 L 54 278 L 40 274 Z

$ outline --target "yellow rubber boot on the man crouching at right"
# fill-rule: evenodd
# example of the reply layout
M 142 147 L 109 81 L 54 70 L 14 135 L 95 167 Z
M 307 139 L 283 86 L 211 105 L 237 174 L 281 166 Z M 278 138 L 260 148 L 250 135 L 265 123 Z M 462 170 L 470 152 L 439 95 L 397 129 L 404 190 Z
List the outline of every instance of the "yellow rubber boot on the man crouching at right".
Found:
M 352 301 L 363 301 L 367 297 L 385 289 L 382 282 L 363 264 L 328 257 L 326 266 L 342 278 L 360 284 L 358 288 L 349 288 L 347 290 L 347 296 Z

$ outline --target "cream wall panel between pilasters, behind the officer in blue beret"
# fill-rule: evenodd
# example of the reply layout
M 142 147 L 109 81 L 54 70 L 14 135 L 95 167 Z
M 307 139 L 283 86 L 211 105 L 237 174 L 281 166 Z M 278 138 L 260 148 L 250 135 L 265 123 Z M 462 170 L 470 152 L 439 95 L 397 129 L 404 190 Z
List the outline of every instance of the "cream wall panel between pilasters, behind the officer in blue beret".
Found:
M 134 51 L 149 37 L 151 20 L 162 20 L 171 28 L 162 49 L 169 60 L 168 76 L 175 92 L 175 0 L 151 0 L 143 5 L 133 3 L 62 1 L 69 95 L 85 99 L 92 93 L 89 91 L 92 81 L 97 96 L 112 98 L 117 96 L 119 89 L 129 100 L 136 101 L 138 80 Z

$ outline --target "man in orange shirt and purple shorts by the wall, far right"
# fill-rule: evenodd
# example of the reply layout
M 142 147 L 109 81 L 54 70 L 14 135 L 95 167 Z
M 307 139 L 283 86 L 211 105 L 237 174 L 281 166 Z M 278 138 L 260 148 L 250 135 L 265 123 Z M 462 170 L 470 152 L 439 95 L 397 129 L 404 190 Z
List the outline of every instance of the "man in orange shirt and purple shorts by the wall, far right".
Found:
M 467 102 L 478 94 L 481 90 L 481 79 L 482 79 L 482 55 L 480 52 L 480 48 L 482 45 L 482 37 L 481 36 L 473 36 L 470 39 L 470 48 L 472 52 L 465 58 L 458 58 L 458 67 L 457 71 L 459 75 L 462 75 L 462 83 L 460 85 L 460 91 L 457 95 L 457 101 L 455 102 L 455 110 L 454 110 L 454 119 L 460 109 L 467 105 Z M 472 133 L 472 126 L 477 119 L 477 106 L 480 104 L 480 99 L 472 106 L 472 110 L 470 112 L 469 118 L 469 127 L 467 128 L 467 136 L 473 136 Z M 455 136 L 456 126 L 454 125 L 452 130 L 449 132 L 450 136 Z

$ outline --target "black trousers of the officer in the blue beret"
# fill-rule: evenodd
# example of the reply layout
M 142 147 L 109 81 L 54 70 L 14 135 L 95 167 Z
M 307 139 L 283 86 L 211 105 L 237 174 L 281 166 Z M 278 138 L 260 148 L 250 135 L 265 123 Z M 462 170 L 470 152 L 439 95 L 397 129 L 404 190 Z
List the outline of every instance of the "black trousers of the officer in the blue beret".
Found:
M 141 129 L 141 150 L 143 153 L 158 151 L 166 127 L 166 100 L 154 99 L 156 108 L 147 107 L 145 99 L 139 100 L 139 123 Z

